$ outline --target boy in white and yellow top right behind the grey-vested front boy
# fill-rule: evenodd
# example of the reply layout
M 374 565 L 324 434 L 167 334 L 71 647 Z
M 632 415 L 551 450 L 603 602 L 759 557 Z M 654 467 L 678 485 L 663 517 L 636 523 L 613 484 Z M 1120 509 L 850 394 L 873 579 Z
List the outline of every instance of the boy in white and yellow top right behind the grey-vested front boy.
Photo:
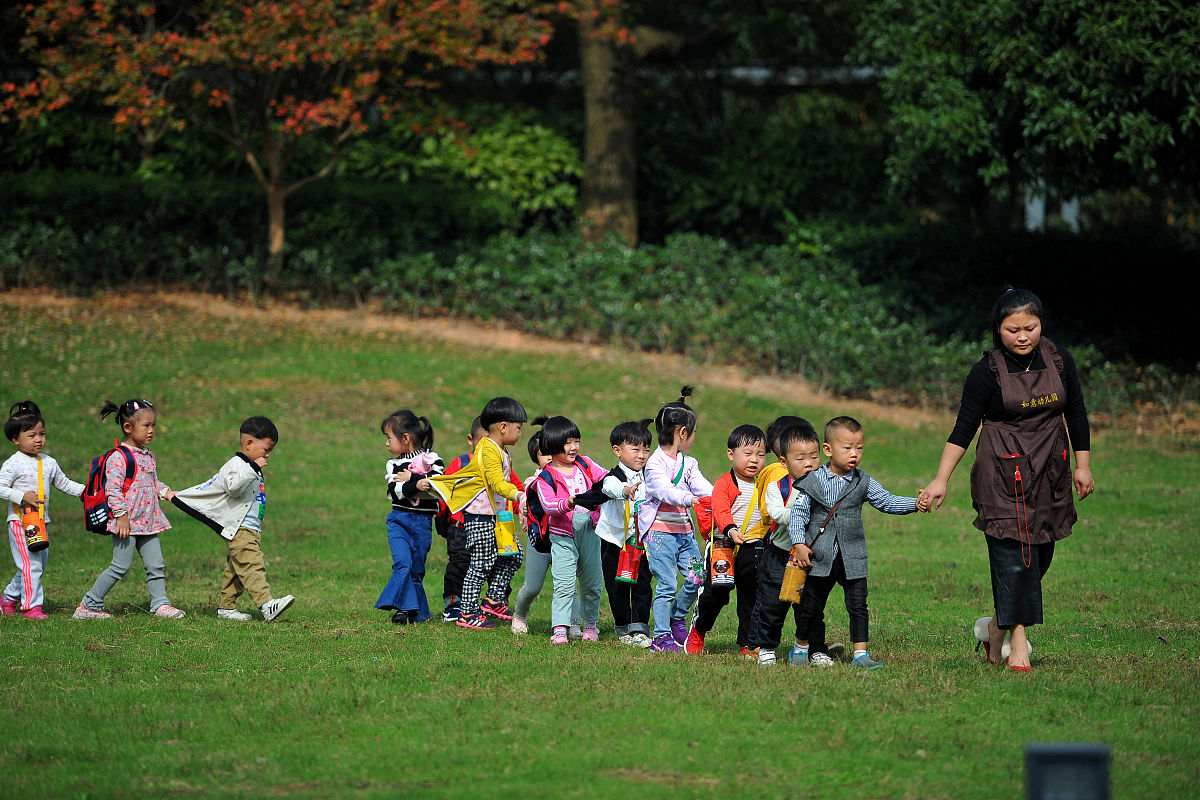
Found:
M 821 464 L 821 440 L 817 438 L 816 428 L 806 420 L 793 419 L 800 420 L 800 425 L 774 432 L 772 447 L 781 456 L 778 465 L 784 469 L 784 475 L 767 483 L 766 488 L 766 510 L 774 525 L 758 557 L 758 594 L 755 599 L 751 639 L 752 646 L 758 650 L 758 663 L 763 666 L 775 663 L 775 648 L 779 646 L 784 620 L 791 606 L 779 599 L 784 570 L 788 563 L 799 566 L 802 557 L 808 555 L 804 531 L 799 530 L 793 535 L 787 524 L 796 499 L 804 494 L 796 491 L 794 486 Z M 772 471 L 778 473 L 778 470 Z M 810 627 L 812 637 L 824 642 L 824 618 L 815 618 Z M 808 631 L 802 636 L 806 637 Z M 808 663 L 806 650 L 805 661 L 793 663 Z

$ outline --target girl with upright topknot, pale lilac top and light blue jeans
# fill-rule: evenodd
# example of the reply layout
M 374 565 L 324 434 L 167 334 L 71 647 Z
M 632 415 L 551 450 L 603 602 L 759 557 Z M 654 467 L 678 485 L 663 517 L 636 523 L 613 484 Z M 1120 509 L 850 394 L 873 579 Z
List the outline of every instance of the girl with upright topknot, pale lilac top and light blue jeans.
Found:
M 700 498 L 712 497 L 708 482 L 695 458 L 688 456 L 696 440 L 696 413 L 688 405 L 691 386 L 679 391 L 679 399 L 667 403 L 654 417 L 659 447 L 646 462 L 646 501 L 637 515 L 646 531 L 646 559 L 656 582 L 654 589 L 655 651 L 678 651 L 688 638 L 684 619 L 703 581 L 703 560 L 696 546 L 688 509 Z M 676 571 L 684 576 L 676 590 Z

